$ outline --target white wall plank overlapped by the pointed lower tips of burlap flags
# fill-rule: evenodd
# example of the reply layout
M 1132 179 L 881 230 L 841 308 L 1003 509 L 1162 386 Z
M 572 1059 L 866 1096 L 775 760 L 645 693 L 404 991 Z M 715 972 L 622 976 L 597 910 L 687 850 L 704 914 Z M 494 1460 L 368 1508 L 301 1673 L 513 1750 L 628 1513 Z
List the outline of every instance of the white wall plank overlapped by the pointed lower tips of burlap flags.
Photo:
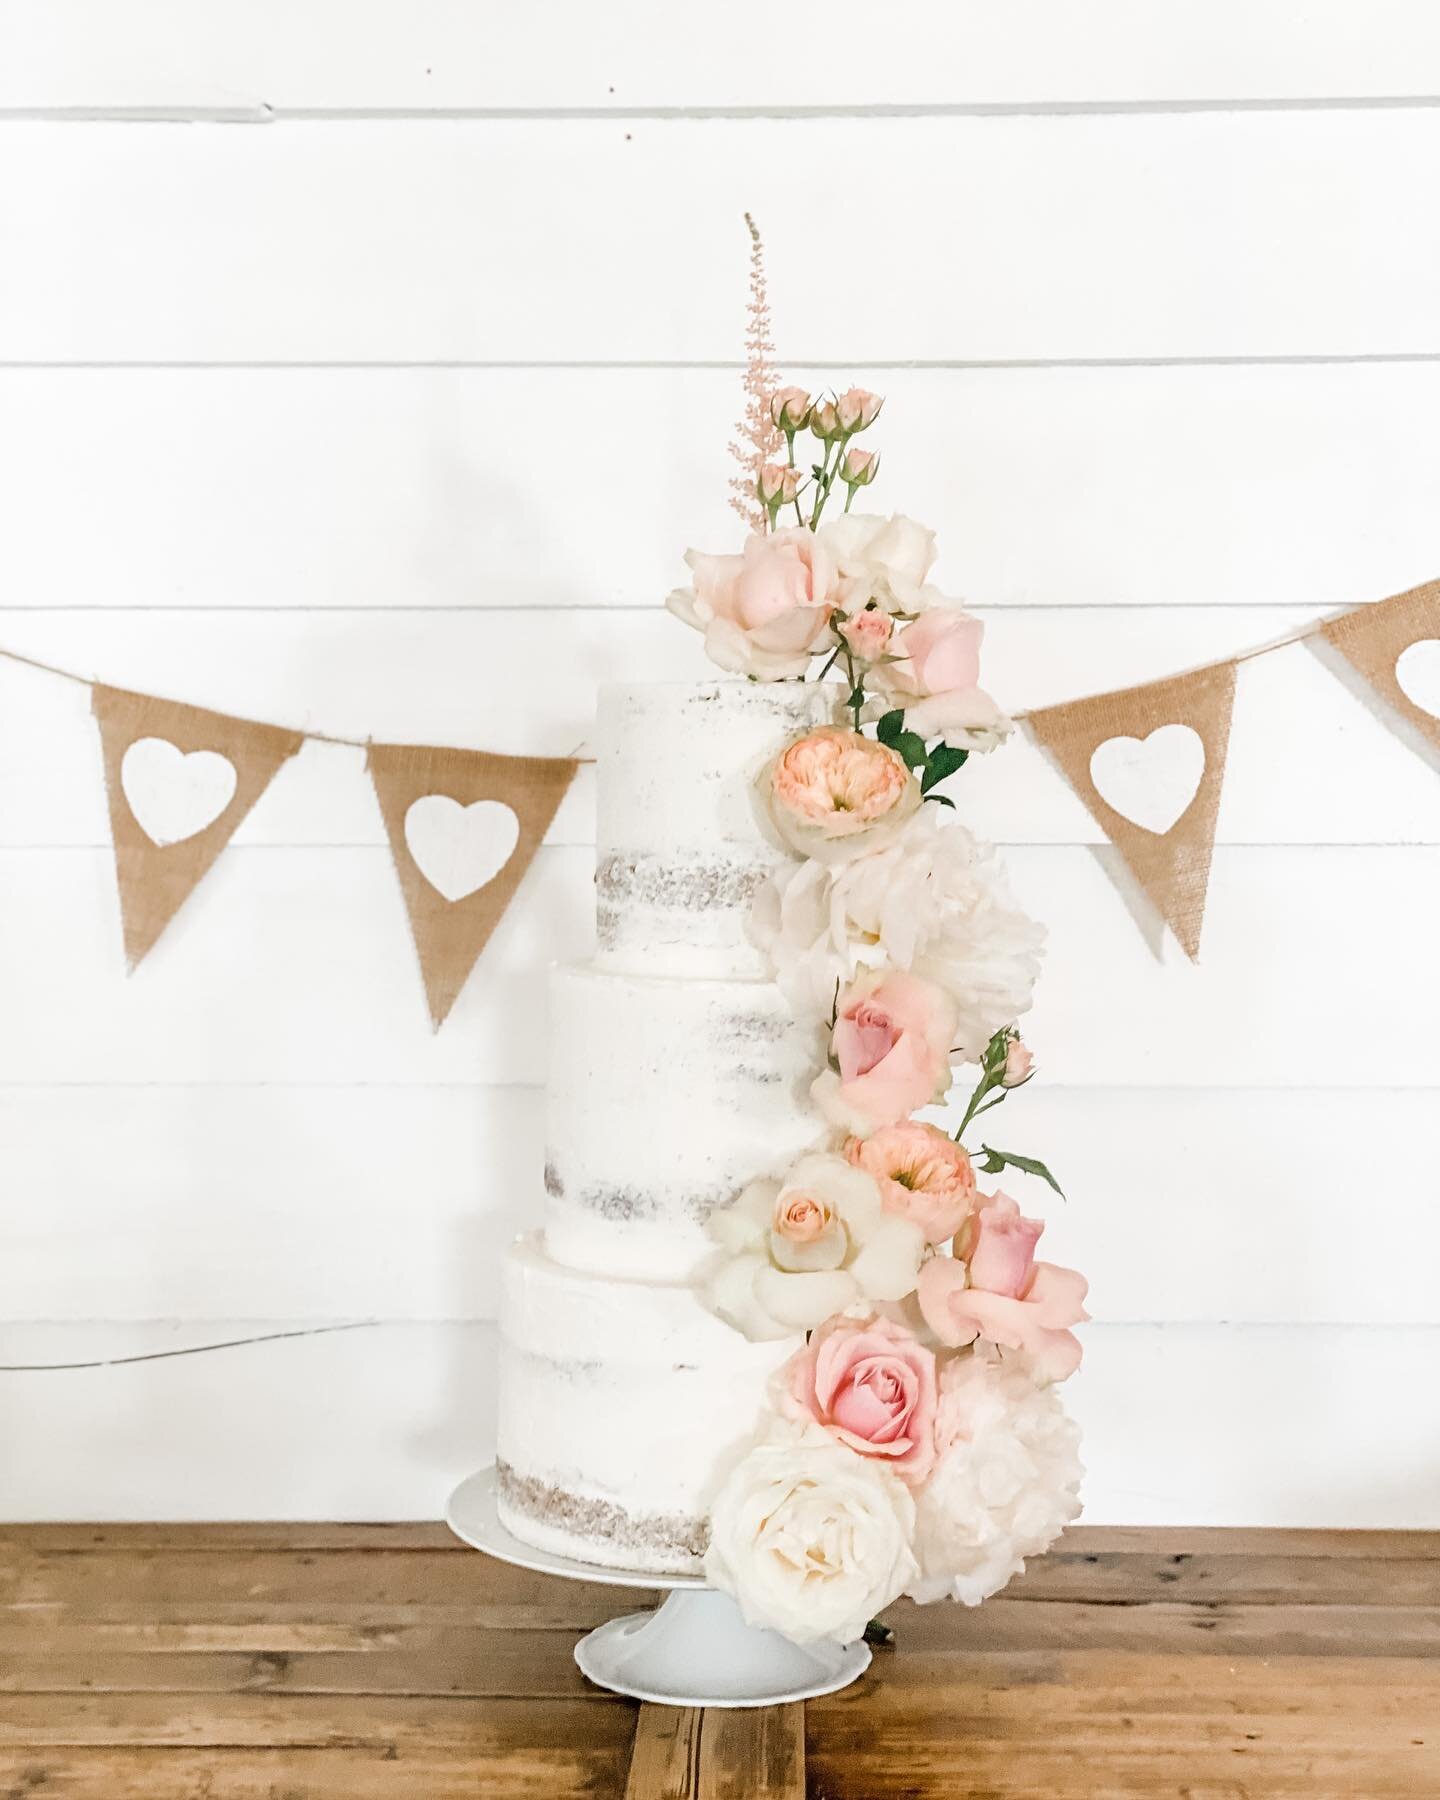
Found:
M 1008 866 L 1049 927 L 1028 1028 L 1053 1080 L 1440 1085 L 1409 1004 L 1440 850 L 1222 848 L 1202 967 L 1168 940 L 1152 954 L 1112 851 L 1026 846 Z M 542 850 L 434 1035 L 382 850 L 232 848 L 131 977 L 110 851 L 0 851 L 0 1084 L 538 1082 L 544 972 L 589 952 L 590 868 Z

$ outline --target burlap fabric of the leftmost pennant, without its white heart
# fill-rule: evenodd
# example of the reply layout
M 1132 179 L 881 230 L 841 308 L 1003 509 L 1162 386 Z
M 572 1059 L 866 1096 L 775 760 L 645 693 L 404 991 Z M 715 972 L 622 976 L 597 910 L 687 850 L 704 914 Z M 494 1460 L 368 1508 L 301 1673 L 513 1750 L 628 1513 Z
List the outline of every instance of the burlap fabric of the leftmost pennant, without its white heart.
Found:
M 180 700 L 157 700 L 144 693 L 95 684 L 90 700 L 101 729 L 104 792 L 110 803 L 110 835 L 115 842 L 115 878 L 121 889 L 124 954 L 130 967 L 155 947 L 205 871 L 234 837 L 236 826 L 270 787 L 275 770 L 299 751 L 304 738 L 277 725 L 207 713 Z M 126 794 L 126 752 L 158 740 L 171 779 L 184 781 L 184 758 L 211 752 L 234 770 L 234 787 L 220 812 L 198 817 L 184 835 L 166 837 L 158 826 L 140 823 L 139 796 Z M 131 765 L 133 767 L 133 765 Z M 133 783 L 131 783 L 133 788 Z M 202 799 L 203 806 L 203 799 Z

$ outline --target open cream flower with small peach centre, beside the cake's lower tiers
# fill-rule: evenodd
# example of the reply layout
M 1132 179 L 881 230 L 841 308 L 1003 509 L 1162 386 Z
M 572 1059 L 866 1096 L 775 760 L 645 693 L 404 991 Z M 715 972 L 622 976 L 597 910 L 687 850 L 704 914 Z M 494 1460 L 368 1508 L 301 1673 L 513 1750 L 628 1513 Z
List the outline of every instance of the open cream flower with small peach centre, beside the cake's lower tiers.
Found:
M 902 1300 L 925 1255 L 875 1177 L 828 1152 L 803 1156 L 783 1181 L 752 1181 L 711 1213 L 709 1233 L 729 1251 L 709 1303 L 752 1343 L 814 1330 L 859 1300 Z

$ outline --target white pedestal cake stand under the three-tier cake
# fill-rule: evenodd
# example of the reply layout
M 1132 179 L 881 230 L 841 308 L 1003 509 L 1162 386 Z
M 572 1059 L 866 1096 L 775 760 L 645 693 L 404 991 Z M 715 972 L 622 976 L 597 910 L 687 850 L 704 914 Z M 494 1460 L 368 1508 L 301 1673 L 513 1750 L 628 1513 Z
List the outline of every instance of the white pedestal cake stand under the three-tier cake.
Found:
M 612 1618 L 576 1643 L 581 1674 L 614 1694 L 661 1706 L 779 1706 L 833 1694 L 869 1669 L 868 1643 L 792 1643 L 778 1631 L 747 1625 L 734 1600 L 700 1575 L 608 1570 L 520 1543 L 500 1525 L 493 1467 L 461 1481 L 445 1521 L 466 1544 L 522 1570 L 608 1588 L 670 1589 L 653 1611 Z

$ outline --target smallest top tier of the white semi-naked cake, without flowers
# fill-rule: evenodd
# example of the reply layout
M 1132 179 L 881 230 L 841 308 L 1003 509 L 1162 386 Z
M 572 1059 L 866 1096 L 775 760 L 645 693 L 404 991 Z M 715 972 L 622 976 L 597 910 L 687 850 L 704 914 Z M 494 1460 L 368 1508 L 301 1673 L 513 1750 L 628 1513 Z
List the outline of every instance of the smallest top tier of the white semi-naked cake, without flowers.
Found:
M 648 682 L 599 689 L 596 963 L 648 976 L 763 977 L 745 925 L 783 860 L 752 781 L 832 724 L 828 682 Z

